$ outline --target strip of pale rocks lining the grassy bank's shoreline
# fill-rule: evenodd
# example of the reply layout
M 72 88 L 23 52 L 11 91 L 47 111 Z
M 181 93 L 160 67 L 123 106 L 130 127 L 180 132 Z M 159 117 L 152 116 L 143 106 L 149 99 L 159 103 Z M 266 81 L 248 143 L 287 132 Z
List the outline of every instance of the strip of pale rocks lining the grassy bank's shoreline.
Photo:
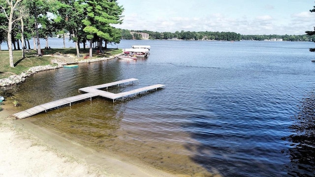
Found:
M 32 76 L 33 74 L 40 72 L 40 71 L 46 71 L 46 70 L 50 70 L 50 69 L 58 69 L 58 68 L 63 67 L 63 65 L 66 65 L 66 64 L 90 63 L 90 62 L 95 62 L 95 61 L 103 61 L 103 60 L 107 60 L 107 59 L 115 59 L 116 56 L 118 56 L 118 55 L 111 56 L 108 58 L 104 57 L 104 58 L 99 58 L 99 59 L 82 59 L 82 60 L 71 59 L 71 60 L 67 60 L 67 61 L 64 61 L 64 60 L 57 57 L 56 59 L 51 60 L 52 64 L 45 65 L 45 66 L 33 66 L 29 70 L 24 71 L 19 75 L 11 75 L 8 78 L 0 79 L 0 88 L 12 86 L 12 85 L 24 82 L 26 80 L 26 78 L 28 78 L 28 77 Z

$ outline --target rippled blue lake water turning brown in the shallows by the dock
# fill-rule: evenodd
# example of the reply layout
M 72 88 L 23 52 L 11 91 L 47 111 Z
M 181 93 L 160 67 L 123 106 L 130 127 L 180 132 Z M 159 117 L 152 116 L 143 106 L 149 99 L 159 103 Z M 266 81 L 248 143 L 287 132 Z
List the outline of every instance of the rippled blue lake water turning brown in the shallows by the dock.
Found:
M 16 88 L 19 109 L 128 78 L 139 84 L 110 90 L 165 89 L 114 104 L 94 98 L 19 121 L 175 174 L 314 175 L 314 43 L 122 40 L 109 47 L 131 45 L 150 45 L 151 55 L 33 75 Z

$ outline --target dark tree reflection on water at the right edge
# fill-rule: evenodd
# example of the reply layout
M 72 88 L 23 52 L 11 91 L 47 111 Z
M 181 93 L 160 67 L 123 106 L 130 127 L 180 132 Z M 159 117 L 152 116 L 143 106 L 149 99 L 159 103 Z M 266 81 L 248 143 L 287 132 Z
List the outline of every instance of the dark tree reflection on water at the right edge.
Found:
M 294 116 L 290 127 L 294 134 L 289 149 L 291 163 L 288 175 L 294 177 L 314 177 L 315 175 L 315 90 L 301 102 L 300 112 Z

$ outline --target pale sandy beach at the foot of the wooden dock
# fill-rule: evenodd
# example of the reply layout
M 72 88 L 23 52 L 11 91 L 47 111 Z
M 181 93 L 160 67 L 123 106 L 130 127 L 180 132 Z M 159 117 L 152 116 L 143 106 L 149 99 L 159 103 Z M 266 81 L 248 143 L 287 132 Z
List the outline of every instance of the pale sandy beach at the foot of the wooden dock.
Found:
M 172 177 L 15 120 L 6 102 L 0 111 L 0 177 Z

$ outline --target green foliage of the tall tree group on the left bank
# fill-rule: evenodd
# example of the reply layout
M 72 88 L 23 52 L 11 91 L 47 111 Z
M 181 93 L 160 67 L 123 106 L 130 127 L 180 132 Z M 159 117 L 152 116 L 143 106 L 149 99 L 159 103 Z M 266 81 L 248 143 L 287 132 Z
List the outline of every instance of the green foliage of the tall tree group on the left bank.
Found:
M 60 31 L 71 33 L 71 39 L 76 43 L 77 57 L 78 43 L 85 43 L 87 39 L 91 40 L 91 44 L 92 41 L 98 41 L 100 50 L 103 41 L 105 48 L 107 43 L 120 42 L 122 32 L 112 27 L 112 24 L 122 23 L 124 8 L 116 0 L 0 0 L 0 43 L 3 40 L 7 40 L 8 44 L 12 41 L 14 49 L 16 43 L 19 49 L 17 37 L 21 36 L 22 31 L 19 25 L 19 19 L 24 16 L 19 13 L 22 7 L 28 13 L 27 18 L 20 22 L 25 24 L 23 36 L 27 40 L 33 37 L 34 49 L 37 42 L 38 55 L 41 55 L 39 38 L 48 41 L 48 36 Z M 9 31 L 10 37 L 4 38 L 4 31 Z M 9 49 L 12 50 L 11 43 Z M 10 65 L 13 66 L 12 63 L 13 57 L 10 58 Z

